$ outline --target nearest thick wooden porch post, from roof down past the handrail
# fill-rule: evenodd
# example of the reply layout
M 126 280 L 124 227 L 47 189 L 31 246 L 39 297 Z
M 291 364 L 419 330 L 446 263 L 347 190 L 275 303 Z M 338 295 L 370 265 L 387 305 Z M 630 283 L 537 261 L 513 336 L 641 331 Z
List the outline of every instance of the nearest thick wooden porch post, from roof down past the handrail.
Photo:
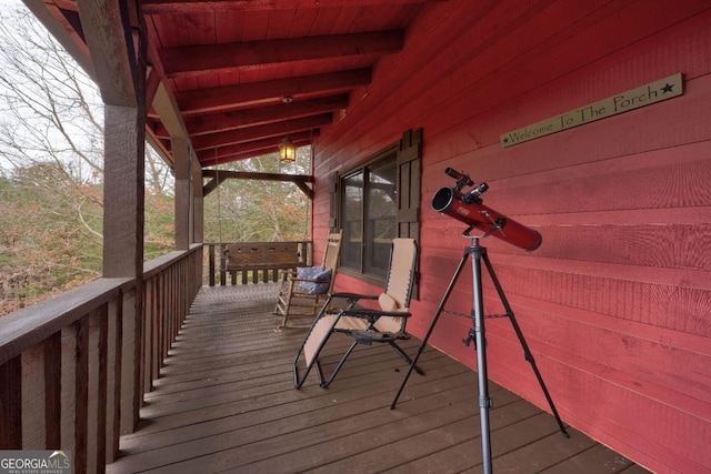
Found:
M 122 319 L 121 430 L 139 420 L 143 314 L 144 148 L 148 37 L 134 2 L 78 0 L 104 103 L 103 276 L 131 278 Z

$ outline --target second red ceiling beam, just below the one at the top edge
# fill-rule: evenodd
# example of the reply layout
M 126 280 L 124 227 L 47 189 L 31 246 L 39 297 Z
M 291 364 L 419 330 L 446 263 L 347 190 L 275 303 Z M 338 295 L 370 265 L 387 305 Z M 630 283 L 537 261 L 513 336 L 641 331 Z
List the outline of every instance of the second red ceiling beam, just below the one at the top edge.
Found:
M 403 42 L 404 31 L 393 30 L 163 48 L 159 54 L 166 73 L 178 78 L 283 62 L 385 54 L 400 51 Z

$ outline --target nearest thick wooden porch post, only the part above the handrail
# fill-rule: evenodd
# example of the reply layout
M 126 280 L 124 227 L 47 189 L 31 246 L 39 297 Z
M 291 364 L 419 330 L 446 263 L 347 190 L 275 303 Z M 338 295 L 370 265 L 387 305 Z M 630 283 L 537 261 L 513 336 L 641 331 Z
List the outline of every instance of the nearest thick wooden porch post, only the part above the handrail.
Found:
M 104 102 L 103 276 L 143 272 L 146 47 L 131 2 L 79 0 L 81 24 Z M 143 33 L 144 34 L 144 33 Z M 127 39 L 134 41 L 127 41 Z

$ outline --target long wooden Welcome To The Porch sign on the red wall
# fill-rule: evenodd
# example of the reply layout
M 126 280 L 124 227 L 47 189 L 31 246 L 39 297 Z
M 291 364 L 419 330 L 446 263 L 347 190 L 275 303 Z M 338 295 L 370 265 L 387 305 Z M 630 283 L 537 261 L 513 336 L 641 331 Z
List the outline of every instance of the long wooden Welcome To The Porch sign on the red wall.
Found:
M 661 102 L 681 95 L 683 92 L 683 79 L 681 72 L 660 79 L 649 84 L 640 85 L 610 98 L 593 102 L 570 112 L 513 130 L 501 135 L 501 147 L 512 147 L 529 140 L 540 139 L 573 127 L 583 125 L 595 120 L 617 115 L 639 109 L 651 103 Z

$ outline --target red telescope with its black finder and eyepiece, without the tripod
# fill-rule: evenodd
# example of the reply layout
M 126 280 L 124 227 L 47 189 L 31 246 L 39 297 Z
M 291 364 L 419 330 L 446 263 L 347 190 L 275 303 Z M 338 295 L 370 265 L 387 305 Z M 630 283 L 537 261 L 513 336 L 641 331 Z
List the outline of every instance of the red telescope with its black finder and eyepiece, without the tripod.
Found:
M 487 183 L 474 185 L 469 175 L 451 168 L 444 170 L 444 173 L 454 178 L 457 185 L 441 188 L 434 194 L 432 198 L 434 211 L 469 225 L 467 234 L 472 229 L 477 229 L 483 232 L 482 236 L 493 235 L 529 252 L 539 248 L 543 238 L 538 231 L 529 229 L 483 204 L 481 194 L 489 189 Z M 472 189 L 463 192 L 464 186 L 472 186 Z

